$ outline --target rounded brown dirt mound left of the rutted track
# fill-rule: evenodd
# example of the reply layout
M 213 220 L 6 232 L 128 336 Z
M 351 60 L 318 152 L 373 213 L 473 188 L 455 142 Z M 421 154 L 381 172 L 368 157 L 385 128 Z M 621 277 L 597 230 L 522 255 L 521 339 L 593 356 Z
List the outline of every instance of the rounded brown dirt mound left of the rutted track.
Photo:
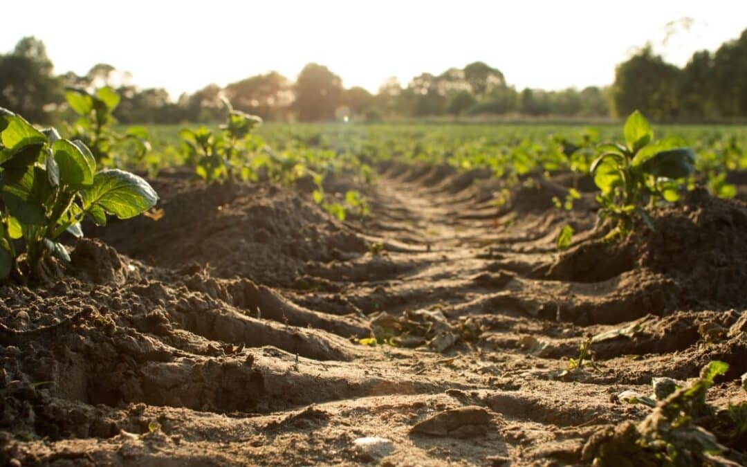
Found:
M 332 220 L 308 197 L 273 185 L 212 185 L 179 173 L 159 177 L 158 220 L 137 217 L 90 229 L 122 253 L 151 265 L 193 263 L 215 276 L 241 276 L 291 286 L 306 262 L 364 253 L 365 241 Z

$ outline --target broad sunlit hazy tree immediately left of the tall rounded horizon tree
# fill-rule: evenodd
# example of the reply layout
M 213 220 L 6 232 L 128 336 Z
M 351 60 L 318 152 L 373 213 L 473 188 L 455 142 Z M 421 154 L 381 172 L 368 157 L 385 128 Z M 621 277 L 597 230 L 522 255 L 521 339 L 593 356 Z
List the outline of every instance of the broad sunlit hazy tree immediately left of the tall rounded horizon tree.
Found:
M 290 81 L 276 71 L 229 84 L 226 97 L 237 110 L 265 120 L 281 118 L 293 99 Z

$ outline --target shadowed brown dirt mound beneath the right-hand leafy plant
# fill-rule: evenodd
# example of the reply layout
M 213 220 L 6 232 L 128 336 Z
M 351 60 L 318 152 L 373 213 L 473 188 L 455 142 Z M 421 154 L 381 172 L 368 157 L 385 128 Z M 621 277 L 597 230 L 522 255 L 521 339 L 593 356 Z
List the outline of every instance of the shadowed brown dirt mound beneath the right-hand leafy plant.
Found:
M 662 289 L 675 284 L 660 312 L 731 309 L 746 305 L 747 205 L 689 192 L 675 205 L 652 213 L 654 230 L 642 222 L 619 244 L 592 238 L 537 267 L 530 276 L 573 282 L 603 282 L 633 270 L 659 276 Z M 635 318 L 631 316 L 629 319 Z

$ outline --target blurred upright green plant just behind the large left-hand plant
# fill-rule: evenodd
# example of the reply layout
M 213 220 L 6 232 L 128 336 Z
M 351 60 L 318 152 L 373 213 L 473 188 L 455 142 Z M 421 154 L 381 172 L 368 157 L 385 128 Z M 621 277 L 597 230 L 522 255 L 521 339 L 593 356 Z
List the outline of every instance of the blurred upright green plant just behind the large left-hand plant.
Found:
M 78 87 L 69 87 L 65 92 L 67 105 L 78 120 L 69 126 L 70 139 L 80 140 L 89 149 L 96 162 L 115 159 L 140 161 L 150 150 L 148 131 L 135 126 L 125 134 L 114 131 L 117 123 L 114 110 L 120 105 L 120 96 L 111 87 L 99 87 L 93 93 Z M 122 161 L 114 160 L 115 165 Z

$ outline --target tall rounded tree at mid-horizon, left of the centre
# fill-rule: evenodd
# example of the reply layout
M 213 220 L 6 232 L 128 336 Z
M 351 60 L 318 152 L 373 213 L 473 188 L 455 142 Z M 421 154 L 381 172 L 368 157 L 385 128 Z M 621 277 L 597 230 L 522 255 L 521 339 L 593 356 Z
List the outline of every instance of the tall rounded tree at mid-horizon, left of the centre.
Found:
M 332 120 L 341 103 L 342 80 L 319 64 L 303 67 L 294 86 L 293 108 L 303 121 Z

